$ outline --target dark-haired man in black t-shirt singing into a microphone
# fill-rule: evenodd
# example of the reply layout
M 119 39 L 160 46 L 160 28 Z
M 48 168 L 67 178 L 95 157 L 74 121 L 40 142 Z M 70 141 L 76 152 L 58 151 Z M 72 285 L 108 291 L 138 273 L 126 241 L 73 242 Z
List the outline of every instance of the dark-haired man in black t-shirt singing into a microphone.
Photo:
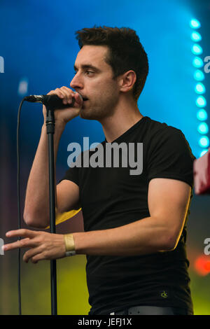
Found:
M 55 159 L 66 123 L 80 116 L 102 124 L 104 159 L 108 145 L 117 145 L 118 151 L 120 145 L 127 150 L 131 144 L 142 145 L 141 158 L 138 147 L 132 148 L 132 155 L 143 167 L 141 173 L 131 174 L 130 162 L 122 165 L 123 147 L 118 166 L 113 158 L 109 166 L 75 163 L 57 184 L 56 209 L 63 213 L 81 207 L 85 232 L 10 231 L 7 237 L 25 239 L 4 250 L 29 248 L 23 259 L 34 263 L 87 255 L 90 315 L 193 314 L 186 223 L 195 156 L 181 130 L 143 116 L 138 109 L 148 57 L 136 32 L 93 27 L 76 34 L 80 51 L 71 89 L 48 93 L 66 104 L 66 109 L 55 111 Z M 43 106 L 44 123 L 25 199 L 25 223 L 34 228 L 49 225 L 45 112 Z M 94 148 L 88 156 L 96 152 Z M 82 154 L 81 158 L 83 164 Z

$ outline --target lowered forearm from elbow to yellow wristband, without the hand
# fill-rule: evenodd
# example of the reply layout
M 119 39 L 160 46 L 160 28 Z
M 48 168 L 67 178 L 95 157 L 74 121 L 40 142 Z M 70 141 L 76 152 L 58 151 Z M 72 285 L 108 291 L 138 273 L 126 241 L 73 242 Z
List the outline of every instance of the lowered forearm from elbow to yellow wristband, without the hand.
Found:
M 164 224 L 147 217 L 119 228 L 73 233 L 77 254 L 144 255 L 172 250 L 174 241 Z

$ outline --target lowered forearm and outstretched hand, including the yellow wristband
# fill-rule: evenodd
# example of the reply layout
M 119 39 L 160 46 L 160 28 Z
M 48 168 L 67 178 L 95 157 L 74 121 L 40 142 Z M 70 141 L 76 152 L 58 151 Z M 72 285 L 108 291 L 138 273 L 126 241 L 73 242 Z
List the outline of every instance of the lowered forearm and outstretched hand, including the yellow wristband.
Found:
M 6 237 L 25 237 L 3 246 L 8 251 L 14 248 L 27 248 L 24 260 L 38 262 L 43 259 L 57 259 L 66 256 L 66 251 L 85 255 L 145 255 L 172 250 L 170 233 L 156 218 L 146 217 L 120 228 L 90 232 L 72 233 L 68 237 L 48 232 L 15 230 Z

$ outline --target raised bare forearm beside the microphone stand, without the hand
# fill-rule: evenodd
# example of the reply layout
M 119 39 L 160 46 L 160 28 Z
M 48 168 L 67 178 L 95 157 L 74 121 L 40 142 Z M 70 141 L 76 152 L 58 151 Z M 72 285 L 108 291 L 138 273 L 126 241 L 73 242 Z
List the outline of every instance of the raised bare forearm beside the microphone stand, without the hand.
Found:
M 59 139 L 64 131 L 64 125 L 55 124 L 54 160 L 56 172 L 57 150 Z M 56 187 L 56 175 L 55 175 Z M 55 188 L 56 203 L 56 188 Z M 24 219 L 27 225 L 46 227 L 49 223 L 49 174 L 48 174 L 48 135 L 43 125 L 41 138 L 34 158 L 25 197 Z

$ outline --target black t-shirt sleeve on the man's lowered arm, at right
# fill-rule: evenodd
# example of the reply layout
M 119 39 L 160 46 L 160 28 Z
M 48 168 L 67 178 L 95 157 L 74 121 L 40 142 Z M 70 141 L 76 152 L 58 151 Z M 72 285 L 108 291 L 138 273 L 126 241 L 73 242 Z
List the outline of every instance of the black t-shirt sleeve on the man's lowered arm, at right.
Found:
M 181 130 L 174 127 L 160 130 L 151 140 L 147 154 L 148 181 L 154 178 L 177 179 L 193 188 L 194 160 L 195 156 Z

